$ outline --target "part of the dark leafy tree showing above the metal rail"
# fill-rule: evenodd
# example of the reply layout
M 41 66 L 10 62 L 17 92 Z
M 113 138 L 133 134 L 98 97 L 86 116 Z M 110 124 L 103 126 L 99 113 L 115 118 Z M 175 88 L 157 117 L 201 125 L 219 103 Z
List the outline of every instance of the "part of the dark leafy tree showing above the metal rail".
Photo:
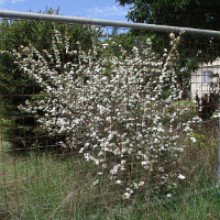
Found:
M 218 0 L 117 0 L 133 22 L 220 30 Z

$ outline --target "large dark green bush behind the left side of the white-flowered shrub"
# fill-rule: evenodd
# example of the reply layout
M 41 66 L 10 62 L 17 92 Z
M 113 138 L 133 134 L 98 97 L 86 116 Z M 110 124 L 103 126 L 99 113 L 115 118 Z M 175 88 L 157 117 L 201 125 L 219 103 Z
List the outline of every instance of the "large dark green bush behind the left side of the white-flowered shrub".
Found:
M 58 10 L 47 10 L 45 13 L 58 13 Z M 76 24 L 56 24 L 57 30 L 65 36 L 68 35 L 70 46 L 76 47 L 80 42 L 84 50 L 88 50 L 92 38 L 98 37 L 99 32 L 89 26 Z M 41 88 L 28 75 L 22 73 L 13 61 L 13 50 L 20 51 L 21 46 L 32 44 L 40 52 L 52 52 L 54 37 L 54 24 L 28 20 L 2 20 L 0 22 L 0 100 L 2 103 L 1 114 L 10 121 L 8 129 L 4 127 L 6 139 L 13 143 L 15 148 L 33 147 L 36 144 L 35 136 L 40 136 L 38 145 L 55 144 L 54 139 L 46 138 L 45 133 L 37 133 L 36 119 L 32 114 L 25 114 L 18 108 L 24 105 L 26 99 L 41 92 Z M 59 43 L 59 51 L 65 52 L 65 44 Z M 53 55 L 53 54 L 52 54 Z M 65 64 L 73 57 L 63 56 Z M 77 58 L 75 57 L 76 64 Z M 13 125 L 12 125 L 13 124 Z M 13 128 L 13 129 L 11 129 Z

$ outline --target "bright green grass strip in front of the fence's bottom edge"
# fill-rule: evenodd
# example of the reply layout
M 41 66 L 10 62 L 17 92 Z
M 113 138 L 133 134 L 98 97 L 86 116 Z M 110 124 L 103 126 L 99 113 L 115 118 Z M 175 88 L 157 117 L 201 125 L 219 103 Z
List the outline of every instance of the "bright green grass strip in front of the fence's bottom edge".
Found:
M 114 209 L 108 220 L 207 220 L 220 219 L 220 198 L 217 188 L 195 189 L 188 195 L 183 191 L 176 199 L 140 204 L 132 208 Z

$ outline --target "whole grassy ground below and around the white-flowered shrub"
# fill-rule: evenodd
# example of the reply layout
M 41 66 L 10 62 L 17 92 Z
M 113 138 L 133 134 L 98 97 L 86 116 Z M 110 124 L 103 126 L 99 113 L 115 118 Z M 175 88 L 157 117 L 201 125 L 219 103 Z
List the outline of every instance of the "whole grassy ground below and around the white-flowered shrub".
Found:
M 138 196 L 131 202 L 121 200 L 120 189 L 108 180 L 95 187 L 97 167 L 76 154 L 18 155 L 1 142 L 0 210 L 8 210 L 12 220 L 220 220 L 213 124 L 195 128 L 197 143 L 183 136 L 187 178 L 173 198 Z

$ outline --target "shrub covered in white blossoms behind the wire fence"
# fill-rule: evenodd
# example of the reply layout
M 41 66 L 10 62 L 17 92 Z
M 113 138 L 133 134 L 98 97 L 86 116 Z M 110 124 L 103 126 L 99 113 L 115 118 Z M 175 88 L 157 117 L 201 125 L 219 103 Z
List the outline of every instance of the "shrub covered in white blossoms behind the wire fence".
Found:
M 62 62 L 61 43 L 69 62 Z M 172 48 L 163 55 L 146 40 L 144 50 L 121 48 L 120 57 L 102 56 L 108 45 L 94 42 L 89 52 L 80 45 L 70 50 L 68 37 L 62 40 L 55 31 L 54 54 L 41 54 L 32 45 L 14 52 L 20 68 L 43 89 L 20 109 L 42 116 L 41 129 L 63 136 L 59 145 L 78 148 L 99 167 L 94 185 L 108 176 L 122 187 L 124 199 L 150 184 L 168 193 L 185 178 L 178 169 L 184 147 L 179 130 L 191 131 L 189 122 L 177 121 L 178 43 L 179 36 L 170 34 Z

